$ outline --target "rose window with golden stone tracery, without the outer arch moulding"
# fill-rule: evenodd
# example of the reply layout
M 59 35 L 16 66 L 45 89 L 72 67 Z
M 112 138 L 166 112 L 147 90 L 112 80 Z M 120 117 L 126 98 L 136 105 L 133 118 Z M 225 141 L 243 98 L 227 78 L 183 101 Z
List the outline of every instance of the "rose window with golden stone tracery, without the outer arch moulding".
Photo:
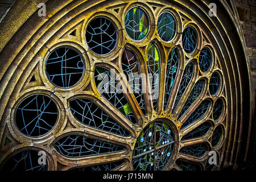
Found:
M 7 170 L 213 169 L 206 155 L 221 154 L 229 109 L 213 39 L 171 2 L 118 2 L 70 16 L 49 54 L 34 52 L 5 109 Z

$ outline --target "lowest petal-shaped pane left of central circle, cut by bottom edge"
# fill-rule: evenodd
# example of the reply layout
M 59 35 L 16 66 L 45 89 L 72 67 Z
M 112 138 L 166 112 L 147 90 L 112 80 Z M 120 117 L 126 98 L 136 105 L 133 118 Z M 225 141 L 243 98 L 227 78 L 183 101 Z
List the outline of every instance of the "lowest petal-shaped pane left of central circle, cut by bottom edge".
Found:
M 98 164 L 94 166 L 86 166 L 86 167 L 77 167 L 73 168 L 69 171 L 114 171 L 114 169 L 117 169 L 123 164 L 122 161 L 117 161 L 113 163 L 106 163 L 106 164 Z

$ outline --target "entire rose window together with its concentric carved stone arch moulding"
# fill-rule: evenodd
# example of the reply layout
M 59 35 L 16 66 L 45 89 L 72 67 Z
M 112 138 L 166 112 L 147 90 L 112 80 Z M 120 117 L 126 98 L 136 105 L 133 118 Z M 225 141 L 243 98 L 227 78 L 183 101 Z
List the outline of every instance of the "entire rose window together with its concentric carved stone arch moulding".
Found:
M 28 160 L 27 170 L 221 170 L 245 162 L 249 67 L 224 1 L 212 17 L 210 1 L 44 2 L 46 17 L 22 0 L 9 13 L 22 12 L 19 3 L 31 11 L 0 23 L 2 169 Z M 39 151 L 46 164 L 37 163 Z M 210 151 L 217 164 L 208 163 Z

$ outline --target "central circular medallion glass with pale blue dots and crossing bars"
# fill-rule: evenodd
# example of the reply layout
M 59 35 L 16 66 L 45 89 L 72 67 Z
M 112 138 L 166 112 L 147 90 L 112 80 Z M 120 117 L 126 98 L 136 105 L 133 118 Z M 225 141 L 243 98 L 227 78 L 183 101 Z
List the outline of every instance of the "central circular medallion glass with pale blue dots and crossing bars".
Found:
M 166 167 L 174 150 L 174 132 L 164 121 L 147 125 L 139 134 L 133 150 L 136 171 L 160 171 Z

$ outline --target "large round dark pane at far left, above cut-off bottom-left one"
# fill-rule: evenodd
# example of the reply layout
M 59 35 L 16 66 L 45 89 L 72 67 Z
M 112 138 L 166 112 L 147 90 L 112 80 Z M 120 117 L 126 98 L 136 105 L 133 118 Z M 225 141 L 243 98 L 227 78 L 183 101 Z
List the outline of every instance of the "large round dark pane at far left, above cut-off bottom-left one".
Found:
M 55 102 L 42 94 L 24 98 L 15 113 L 18 129 L 30 137 L 40 137 L 52 130 L 57 122 L 58 110 Z

